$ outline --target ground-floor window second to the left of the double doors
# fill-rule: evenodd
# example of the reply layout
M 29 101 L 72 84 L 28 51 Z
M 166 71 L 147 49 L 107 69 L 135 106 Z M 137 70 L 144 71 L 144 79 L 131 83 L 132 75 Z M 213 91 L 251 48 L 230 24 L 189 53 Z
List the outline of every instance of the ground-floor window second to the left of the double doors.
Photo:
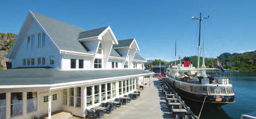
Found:
M 16 117 L 22 115 L 23 111 L 23 102 L 22 102 L 22 93 L 11 93 L 11 117 Z

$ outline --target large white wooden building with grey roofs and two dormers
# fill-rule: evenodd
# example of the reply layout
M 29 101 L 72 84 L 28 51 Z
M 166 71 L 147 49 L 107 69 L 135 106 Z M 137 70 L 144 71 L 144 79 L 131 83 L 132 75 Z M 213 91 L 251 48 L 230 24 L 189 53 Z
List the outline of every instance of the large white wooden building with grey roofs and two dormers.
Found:
M 136 90 L 146 60 L 135 39 L 116 40 L 110 26 L 83 30 L 29 11 L 0 71 L 0 119 L 86 109 Z

